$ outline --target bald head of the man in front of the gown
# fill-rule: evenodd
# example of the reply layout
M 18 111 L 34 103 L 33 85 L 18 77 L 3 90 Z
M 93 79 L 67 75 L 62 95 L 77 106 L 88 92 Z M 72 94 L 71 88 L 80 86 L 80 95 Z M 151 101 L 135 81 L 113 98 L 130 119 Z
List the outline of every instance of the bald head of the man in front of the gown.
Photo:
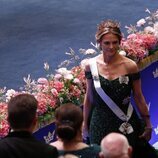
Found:
M 131 156 L 132 147 L 123 134 L 112 132 L 102 139 L 100 158 L 131 158 Z

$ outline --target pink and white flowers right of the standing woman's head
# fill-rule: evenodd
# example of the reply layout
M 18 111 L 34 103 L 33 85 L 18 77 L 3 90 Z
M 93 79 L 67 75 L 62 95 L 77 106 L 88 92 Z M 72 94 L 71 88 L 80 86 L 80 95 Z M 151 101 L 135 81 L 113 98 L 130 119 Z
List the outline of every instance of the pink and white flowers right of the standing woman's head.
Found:
M 158 50 L 158 10 L 140 19 L 136 26 L 126 26 L 129 35 L 121 42 L 127 56 L 136 62 L 154 54 Z

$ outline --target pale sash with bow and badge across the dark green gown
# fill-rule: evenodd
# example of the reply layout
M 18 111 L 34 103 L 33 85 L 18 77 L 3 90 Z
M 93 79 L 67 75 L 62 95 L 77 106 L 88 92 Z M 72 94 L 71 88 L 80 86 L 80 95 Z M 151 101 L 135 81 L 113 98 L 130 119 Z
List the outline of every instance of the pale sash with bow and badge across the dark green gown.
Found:
M 129 119 L 132 116 L 133 113 L 133 106 L 131 103 L 128 106 L 127 115 L 116 105 L 116 103 L 104 92 L 104 90 L 101 88 L 100 80 L 99 80 L 99 74 L 97 69 L 97 63 L 96 59 L 91 59 L 90 62 L 90 69 L 93 77 L 94 87 L 99 94 L 99 96 L 102 98 L 102 100 L 108 105 L 108 107 L 112 110 L 112 112 L 124 123 L 121 124 L 119 127 L 119 130 L 124 134 L 130 134 L 134 130 L 132 126 L 128 123 Z

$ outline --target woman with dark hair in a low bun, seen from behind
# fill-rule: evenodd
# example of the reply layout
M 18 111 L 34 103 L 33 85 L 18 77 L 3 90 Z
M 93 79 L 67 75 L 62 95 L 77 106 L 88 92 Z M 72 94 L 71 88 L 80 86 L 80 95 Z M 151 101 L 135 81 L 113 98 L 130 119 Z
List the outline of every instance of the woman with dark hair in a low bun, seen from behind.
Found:
M 99 145 L 87 145 L 82 139 L 82 109 L 67 103 L 55 111 L 56 134 L 58 140 L 51 145 L 58 149 L 59 155 L 73 154 L 82 158 L 95 158 L 99 155 Z

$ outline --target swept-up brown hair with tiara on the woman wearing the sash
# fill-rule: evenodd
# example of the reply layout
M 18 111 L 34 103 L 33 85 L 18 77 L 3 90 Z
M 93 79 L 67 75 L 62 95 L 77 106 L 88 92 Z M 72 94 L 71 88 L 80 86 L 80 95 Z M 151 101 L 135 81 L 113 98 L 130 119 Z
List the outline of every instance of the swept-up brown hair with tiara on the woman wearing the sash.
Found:
M 102 21 L 97 27 L 97 32 L 95 35 L 96 41 L 99 43 L 103 35 L 107 33 L 115 34 L 119 39 L 119 43 L 121 42 L 122 34 L 120 30 L 120 24 L 118 22 L 110 19 Z

